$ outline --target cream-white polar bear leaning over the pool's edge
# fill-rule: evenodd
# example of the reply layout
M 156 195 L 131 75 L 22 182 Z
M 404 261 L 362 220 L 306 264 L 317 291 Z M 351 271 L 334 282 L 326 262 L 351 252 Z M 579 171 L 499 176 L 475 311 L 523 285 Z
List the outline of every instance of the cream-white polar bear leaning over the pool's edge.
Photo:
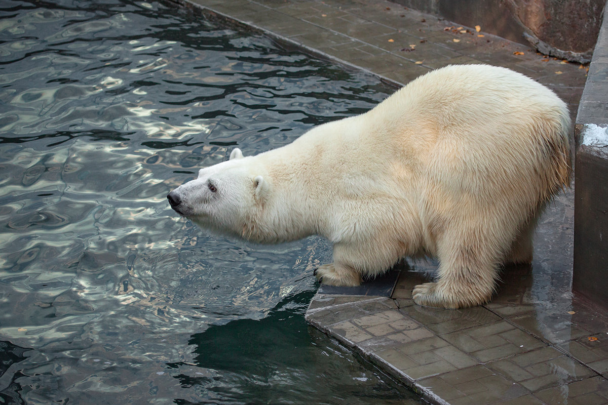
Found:
M 323 284 L 359 285 L 404 256 L 434 256 L 419 305 L 488 301 L 503 262 L 532 258 L 536 218 L 570 185 L 570 117 L 536 81 L 503 67 L 447 66 L 365 114 L 289 145 L 201 169 L 168 195 L 203 228 L 261 243 L 320 234 Z

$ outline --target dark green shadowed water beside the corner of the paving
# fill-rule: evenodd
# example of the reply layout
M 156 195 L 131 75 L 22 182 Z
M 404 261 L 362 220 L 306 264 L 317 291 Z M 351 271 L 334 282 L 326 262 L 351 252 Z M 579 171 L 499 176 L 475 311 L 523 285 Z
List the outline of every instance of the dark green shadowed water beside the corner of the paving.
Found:
M 312 297 L 312 291 L 295 294 L 262 319 L 192 335 L 195 356 L 190 364 L 170 364 L 179 372 L 175 378 L 230 403 L 403 403 L 398 384 L 306 324 Z

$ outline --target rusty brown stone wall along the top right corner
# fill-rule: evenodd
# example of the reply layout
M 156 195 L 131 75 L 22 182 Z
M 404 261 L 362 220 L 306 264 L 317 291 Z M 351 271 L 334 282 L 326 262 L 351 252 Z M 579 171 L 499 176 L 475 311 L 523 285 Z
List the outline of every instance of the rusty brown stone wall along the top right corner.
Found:
M 587 63 L 602 22 L 604 0 L 394 0 L 547 55 Z

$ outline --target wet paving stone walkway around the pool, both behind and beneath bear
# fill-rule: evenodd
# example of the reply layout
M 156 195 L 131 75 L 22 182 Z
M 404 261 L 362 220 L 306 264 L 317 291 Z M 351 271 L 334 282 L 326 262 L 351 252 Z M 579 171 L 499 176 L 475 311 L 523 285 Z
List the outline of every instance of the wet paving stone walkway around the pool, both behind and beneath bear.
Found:
M 448 64 L 488 63 L 553 89 L 575 118 L 586 68 L 387 1 L 177 0 L 306 52 L 404 84 Z M 413 304 L 434 265 L 402 262 L 360 288 L 321 287 L 311 324 L 434 404 L 608 404 L 608 318 L 572 294 L 573 192 L 550 206 L 534 261 L 503 269 L 489 304 Z

